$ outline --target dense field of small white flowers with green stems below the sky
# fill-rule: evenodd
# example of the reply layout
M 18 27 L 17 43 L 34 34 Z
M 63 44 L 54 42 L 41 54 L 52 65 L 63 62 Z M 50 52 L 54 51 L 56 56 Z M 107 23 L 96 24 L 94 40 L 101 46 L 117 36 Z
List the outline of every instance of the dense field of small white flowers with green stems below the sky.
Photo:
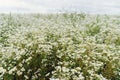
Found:
M 120 16 L 0 14 L 0 80 L 120 80 Z

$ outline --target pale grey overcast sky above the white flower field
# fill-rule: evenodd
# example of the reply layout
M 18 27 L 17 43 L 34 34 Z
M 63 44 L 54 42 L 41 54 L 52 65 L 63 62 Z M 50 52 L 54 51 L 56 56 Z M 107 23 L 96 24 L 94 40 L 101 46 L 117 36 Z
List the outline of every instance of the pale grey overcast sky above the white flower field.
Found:
M 0 13 L 52 13 L 62 11 L 119 14 L 120 0 L 0 0 Z

